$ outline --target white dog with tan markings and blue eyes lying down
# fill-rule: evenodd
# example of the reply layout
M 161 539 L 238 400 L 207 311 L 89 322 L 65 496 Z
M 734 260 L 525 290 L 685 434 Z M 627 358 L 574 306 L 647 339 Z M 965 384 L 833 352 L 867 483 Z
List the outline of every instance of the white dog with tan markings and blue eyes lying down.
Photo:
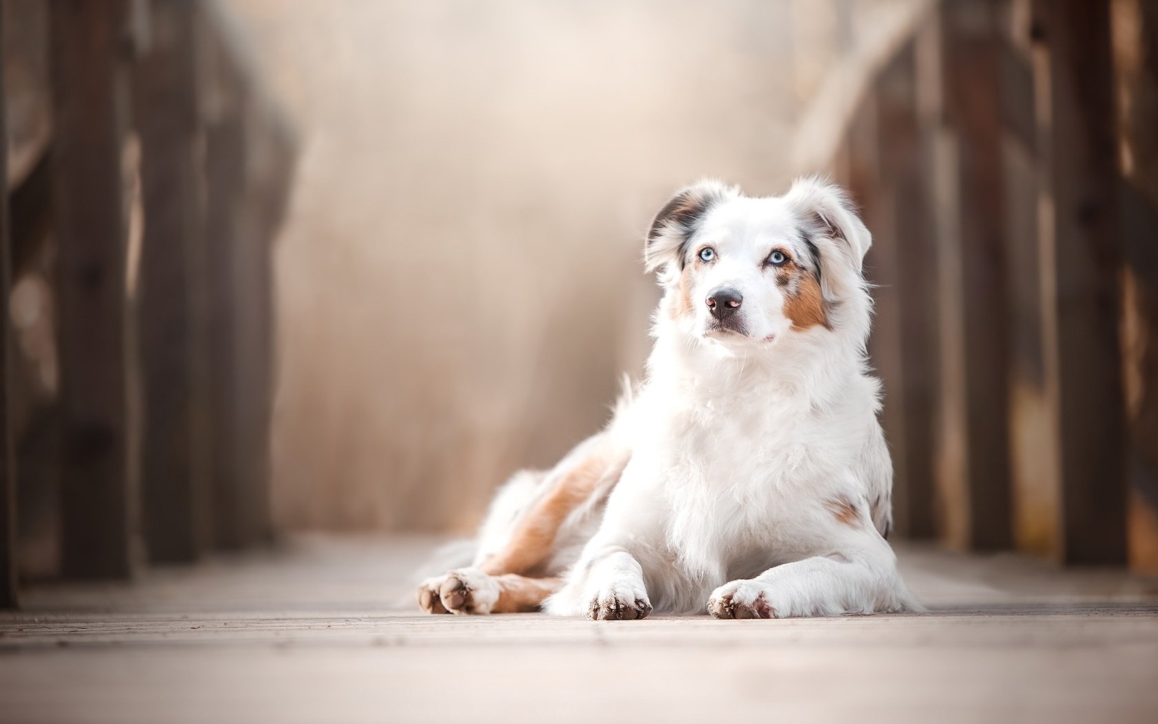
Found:
M 646 378 L 607 426 L 496 496 L 430 613 L 595 620 L 918 612 L 887 542 L 863 275 L 871 235 L 823 180 L 675 193 L 647 233 L 664 290 Z

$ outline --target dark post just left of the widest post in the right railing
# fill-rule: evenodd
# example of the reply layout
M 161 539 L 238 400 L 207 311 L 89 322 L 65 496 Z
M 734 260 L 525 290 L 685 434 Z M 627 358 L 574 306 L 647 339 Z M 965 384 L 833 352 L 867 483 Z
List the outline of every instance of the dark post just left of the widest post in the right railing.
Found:
M 943 537 L 958 549 L 1011 544 L 1002 118 L 1003 3 L 940 6 L 943 112 L 937 141 Z

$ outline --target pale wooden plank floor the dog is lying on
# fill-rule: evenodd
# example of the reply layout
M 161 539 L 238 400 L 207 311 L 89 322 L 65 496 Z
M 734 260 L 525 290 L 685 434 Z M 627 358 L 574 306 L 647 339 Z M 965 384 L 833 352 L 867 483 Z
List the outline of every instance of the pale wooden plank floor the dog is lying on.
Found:
M 425 616 L 398 605 L 430 546 L 32 586 L 0 614 L 0 722 L 1158 721 L 1153 579 L 907 547 L 930 615 Z

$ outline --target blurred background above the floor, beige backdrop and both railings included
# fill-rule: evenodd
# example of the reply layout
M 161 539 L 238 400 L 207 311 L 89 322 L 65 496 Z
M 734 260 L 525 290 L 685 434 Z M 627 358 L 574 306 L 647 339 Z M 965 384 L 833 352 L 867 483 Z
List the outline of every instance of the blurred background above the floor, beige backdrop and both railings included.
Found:
M 638 376 L 667 196 L 845 183 L 897 529 L 1158 570 L 1146 0 L 2 0 L 16 580 L 466 533 Z

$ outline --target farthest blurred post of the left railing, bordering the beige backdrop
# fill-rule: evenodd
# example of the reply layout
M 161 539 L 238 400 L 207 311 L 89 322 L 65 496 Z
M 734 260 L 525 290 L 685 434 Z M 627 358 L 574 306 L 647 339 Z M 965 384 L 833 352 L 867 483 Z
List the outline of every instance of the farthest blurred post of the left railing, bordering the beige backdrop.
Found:
M 212 6 L 208 6 L 212 7 Z M 206 12 L 207 19 L 212 14 Z M 269 541 L 272 401 L 271 244 L 285 210 L 293 148 L 228 38 L 205 37 L 214 543 Z

